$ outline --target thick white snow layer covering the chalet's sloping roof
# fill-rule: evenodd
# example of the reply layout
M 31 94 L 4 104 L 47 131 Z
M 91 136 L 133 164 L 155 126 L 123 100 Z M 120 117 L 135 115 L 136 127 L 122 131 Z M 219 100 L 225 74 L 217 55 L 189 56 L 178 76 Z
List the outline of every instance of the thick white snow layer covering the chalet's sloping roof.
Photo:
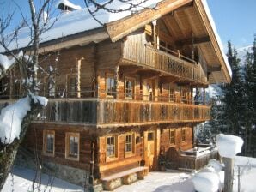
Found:
M 137 2 L 137 0 L 132 0 L 133 2 Z M 133 9 L 131 11 L 122 11 L 119 13 L 110 13 L 103 9 L 99 10 L 95 13 L 95 18 L 101 21 L 102 24 L 106 24 L 112 21 L 118 21 L 125 16 L 131 15 L 133 12 L 136 12 L 143 8 L 154 7 L 156 3 L 161 2 L 162 0 L 150 0 L 141 4 L 141 6 L 137 7 L 137 9 Z M 60 2 L 64 2 L 61 0 Z M 120 3 L 119 1 L 113 1 L 110 3 L 107 8 L 110 9 L 125 9 L 129 6 L 128 4 Z M 94 9 L 94 8 L 91 8 Z M 48 25 L 51 25 L 52 21 L 55 21 L 55 18 L 49 21 Z M 102 27 L 101 24 L 94 20 L 92 15 L 88 13 L 88 9 L 79 9 L 70 12 L 69 14 L 59 15 L 58 20 L 55 21 L 52 28 L 45 33 L 43 33 L 40 37 L 40 43 L 44 43 L 46 41 L 50 41 L 53 39 L 61 39 L 66 36 L 81 33 L 85 31 L 89 31 L 95 28 Z M 23 47 L 27 47 L 28 42 L 30 42 L 30 29 L 29 27 L 21 28 L 18 33 L 18 41 L 17 44 L 15 41 L 10 43 L 9 50 L 20 49 Z M 0 46 L 0 52 L 4 52 L 2 46 Z

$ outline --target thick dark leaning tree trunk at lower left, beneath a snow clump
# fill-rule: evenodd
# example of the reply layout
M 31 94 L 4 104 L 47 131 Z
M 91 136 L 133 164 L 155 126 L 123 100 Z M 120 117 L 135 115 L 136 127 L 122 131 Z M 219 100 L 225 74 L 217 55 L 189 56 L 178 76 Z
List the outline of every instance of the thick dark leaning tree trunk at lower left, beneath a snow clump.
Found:
M 26 135 L 28 125 L 41 110 L 42 105 L 40 105 L 40 103 L 34 104 L 32 99 L 31 111 L 27 112 L 27 115 L 24 117 L 21 124 L 20 139 L 15 139 L 15 141 L 8 145 L 0 143 L 0 191 L 3 189 L 3 185 L 9 175 L 9 171 L 11 171 L 18 148 Z

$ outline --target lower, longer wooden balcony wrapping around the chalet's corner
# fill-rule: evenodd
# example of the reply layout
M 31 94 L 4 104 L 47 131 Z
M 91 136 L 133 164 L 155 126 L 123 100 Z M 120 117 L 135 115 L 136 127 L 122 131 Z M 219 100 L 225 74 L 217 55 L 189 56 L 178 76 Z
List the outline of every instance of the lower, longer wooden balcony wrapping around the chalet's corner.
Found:
M 98 127 L 204 122 L 210 106 L 119 99 L 49 99 L 40 121 L 86 123 Z

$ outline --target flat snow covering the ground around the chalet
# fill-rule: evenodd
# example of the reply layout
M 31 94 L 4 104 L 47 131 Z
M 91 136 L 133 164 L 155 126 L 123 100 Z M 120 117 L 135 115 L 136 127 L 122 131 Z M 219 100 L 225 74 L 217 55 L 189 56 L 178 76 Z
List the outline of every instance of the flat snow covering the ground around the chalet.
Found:
M 256 189 L 256 159 L 236 156 L 235 157 L 235 180 L 234 192 L 237 192 L 237 165 L 241 165 L 241 192 L 254 192 Z M 3 186 L 2 192 L 27 192 L 32 188 L 35 171 L 25 168 L 15 167 L 14 175 L 9 175 L 7 182 Z M 13 178 L 13 182 L 12 182 Z M 49 177 L 42 175 L 42 188 L 48 183 Z M 43 190 L 42 190 L 43 191 Z M 76 186 L 54 178 L 52 188 L 44 190 L 46 192 L 82 192 L 82 187 Z M 194 192 L 190 174 L 178 171 L 153 171 L 144 180 L 139 180 L 131 185 L 123 185 L 113 192 Z

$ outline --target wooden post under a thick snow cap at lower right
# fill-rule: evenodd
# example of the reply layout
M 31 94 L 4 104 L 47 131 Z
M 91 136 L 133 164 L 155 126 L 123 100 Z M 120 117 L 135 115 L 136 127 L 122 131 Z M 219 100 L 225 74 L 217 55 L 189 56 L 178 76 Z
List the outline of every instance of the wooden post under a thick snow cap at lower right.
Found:
M 224 192 L 233 191 L 234 159 L 223 157 L 225 165 Z

